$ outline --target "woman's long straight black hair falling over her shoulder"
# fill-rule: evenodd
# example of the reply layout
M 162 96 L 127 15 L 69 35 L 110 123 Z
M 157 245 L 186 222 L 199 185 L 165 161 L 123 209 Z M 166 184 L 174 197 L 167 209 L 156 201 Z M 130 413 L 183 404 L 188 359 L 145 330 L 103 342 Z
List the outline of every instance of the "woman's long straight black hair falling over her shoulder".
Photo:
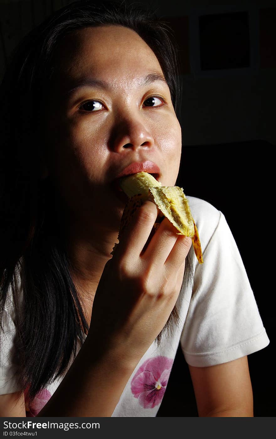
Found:
M 65 373 L 75 359 L 78 339 L 83 342 L 83 332 L 89 329 L 54 217 L 54 187 L 49 178 L 40 178 L 39 103 L 50 87 L 53 54 L 62 36 L 108 24 L 133 29 L 151 47 L 179 115 L 181 89 L 172 32 L 154 14 L 125 1 L 79 0 L 55 12 L 19 43 L 0 86 L 0 325 L 3 330 L 10 291 L 16 310 L 18 383 L 28 389 L 30 403 Z M 190 272 L 187 258 L 184 280 Z M 165 329 L 172 331 L 178 319 L 175 306 L 155 340 L 158 345 Z

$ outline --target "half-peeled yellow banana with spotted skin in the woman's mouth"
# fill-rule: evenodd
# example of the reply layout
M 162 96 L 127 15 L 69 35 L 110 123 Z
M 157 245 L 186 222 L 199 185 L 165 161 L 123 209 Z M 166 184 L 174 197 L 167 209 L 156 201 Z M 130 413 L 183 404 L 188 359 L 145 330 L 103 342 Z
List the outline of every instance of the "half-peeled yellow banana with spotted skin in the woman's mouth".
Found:
M 178 235 L 185 235 L 192 238 L 193 247 L 197 260 L 203 263 L 200 239 L 192 217 L 188 200 L 185 197 L 182 187 L 178 186 L 162 186 L 155 180 L 154 176 L 147 172 L 139 172 L 126 177 L 122 177 L 119 181 L 120 187 L 129 197 L 122 214 L 118 240 L 122 237 L 123 231 L 130 222 L 134 212 L 144 201 L 150 200 L 158 207 L 158 217 L 154 223 L 154 230 L 158 229 L 164 217 L 179 230 Z M 115 244 L 111 255 L 114 254 Z

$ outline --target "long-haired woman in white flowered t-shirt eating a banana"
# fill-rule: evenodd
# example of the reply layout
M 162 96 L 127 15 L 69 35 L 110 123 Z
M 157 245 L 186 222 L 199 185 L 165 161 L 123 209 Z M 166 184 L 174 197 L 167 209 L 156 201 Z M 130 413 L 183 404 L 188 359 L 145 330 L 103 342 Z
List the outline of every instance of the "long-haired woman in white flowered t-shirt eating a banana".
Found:
M 189 198 L 203 266 L 167 219 L 147 242 L 151 202 L 110 254 L 116 178 L 134 166 L 176 183 L 175 54 L 149 14 L 91 1 L 14 54 L 1 85 L 1 416 L 155 416 L 179 342 L 199 416 L 253 416 L 247 355 L 269 341 L 222 213 Z

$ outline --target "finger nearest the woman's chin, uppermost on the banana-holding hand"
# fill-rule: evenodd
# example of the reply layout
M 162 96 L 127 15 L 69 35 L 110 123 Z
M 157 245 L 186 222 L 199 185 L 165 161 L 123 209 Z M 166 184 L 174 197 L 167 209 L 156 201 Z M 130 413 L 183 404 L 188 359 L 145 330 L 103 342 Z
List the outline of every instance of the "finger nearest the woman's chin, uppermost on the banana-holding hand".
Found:
M 140 256 L 158 215 L 157 206 L 145 201 L 133 215 L 120 239 L 120 251 L 128 252 L 132 257 Z

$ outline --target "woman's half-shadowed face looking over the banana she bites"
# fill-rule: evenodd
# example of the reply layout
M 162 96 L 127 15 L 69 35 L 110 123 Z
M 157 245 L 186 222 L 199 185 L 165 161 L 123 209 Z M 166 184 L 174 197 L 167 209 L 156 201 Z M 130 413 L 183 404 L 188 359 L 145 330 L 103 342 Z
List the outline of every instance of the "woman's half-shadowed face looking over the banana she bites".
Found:
M 122 26 L 68 34 L 55 63 L 44 117 L 50 179 L 67 218 L 118 231 L 125 204 L 112 182 L 126 166 L 151 161 L 163 186 L 176 182 L 181 130 L 168 85 L 154 52 Z

